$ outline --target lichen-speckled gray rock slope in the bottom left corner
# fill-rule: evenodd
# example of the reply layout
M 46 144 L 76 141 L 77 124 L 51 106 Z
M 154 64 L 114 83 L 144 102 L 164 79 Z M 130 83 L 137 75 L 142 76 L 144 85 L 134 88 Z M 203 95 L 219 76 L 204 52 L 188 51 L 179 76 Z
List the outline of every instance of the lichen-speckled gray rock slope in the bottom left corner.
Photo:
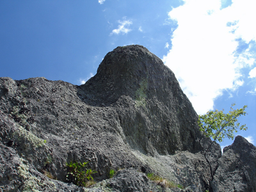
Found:
M 84 191 L 74 184 L 49 179 L 12 147 L 0 143 L 0 150 L 0 191 Z

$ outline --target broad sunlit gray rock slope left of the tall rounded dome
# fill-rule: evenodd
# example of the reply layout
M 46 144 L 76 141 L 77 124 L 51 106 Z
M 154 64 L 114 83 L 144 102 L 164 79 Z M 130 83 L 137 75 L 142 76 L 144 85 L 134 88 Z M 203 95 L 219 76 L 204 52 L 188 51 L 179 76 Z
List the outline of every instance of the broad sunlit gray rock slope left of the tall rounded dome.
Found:
M 84 104 L 77 86 L 44 78 L 1 78 L 1 87 L 8 90 L 1 97 L 1 142 L 37 170 L 64 181 L 70 161 L 90 161 L 97 179 L 106 179 L 111 167 L 143 166 L 122 140 L 115 109 Z

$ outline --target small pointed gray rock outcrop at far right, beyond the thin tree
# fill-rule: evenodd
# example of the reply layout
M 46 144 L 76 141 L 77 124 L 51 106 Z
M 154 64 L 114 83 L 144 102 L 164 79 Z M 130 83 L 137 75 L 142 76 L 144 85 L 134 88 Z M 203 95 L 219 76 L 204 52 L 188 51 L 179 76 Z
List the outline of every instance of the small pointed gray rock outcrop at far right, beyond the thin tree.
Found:
M 223 149 L 214 178 L 214 191 L 256 191 L 256 147 L 237 136 Z

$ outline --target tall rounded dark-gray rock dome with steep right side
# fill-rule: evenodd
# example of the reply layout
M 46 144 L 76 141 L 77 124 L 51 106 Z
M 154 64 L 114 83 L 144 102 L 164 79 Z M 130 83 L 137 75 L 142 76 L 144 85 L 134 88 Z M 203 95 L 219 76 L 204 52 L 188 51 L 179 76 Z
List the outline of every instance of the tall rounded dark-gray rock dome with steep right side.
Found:
M 125 143 L 145 154 L 200 149 L 197 115 L 173 72 L 140 45 L 109 52 L 97 74 L 79 87 L 91 106 L 113 106 Z

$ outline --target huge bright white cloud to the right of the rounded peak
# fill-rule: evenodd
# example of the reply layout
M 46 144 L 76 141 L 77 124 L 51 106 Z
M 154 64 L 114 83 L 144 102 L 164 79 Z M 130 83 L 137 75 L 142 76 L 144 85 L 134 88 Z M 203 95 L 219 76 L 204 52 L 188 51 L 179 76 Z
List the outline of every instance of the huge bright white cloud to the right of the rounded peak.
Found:
M 255 58 L 250 49 L 236 52 L 237 39 L 246 43 L 256 40 L 255 3 L 233 0 L 221 10 L 221 0 L 184 0 L 184 5 L 168 13 L 178 28 L 163 61 L 175 73 L 197 113 L 213 109 L 214 99 L 223 90 L 234 91 L 243 85 L 240 69 L 251 66 Z

